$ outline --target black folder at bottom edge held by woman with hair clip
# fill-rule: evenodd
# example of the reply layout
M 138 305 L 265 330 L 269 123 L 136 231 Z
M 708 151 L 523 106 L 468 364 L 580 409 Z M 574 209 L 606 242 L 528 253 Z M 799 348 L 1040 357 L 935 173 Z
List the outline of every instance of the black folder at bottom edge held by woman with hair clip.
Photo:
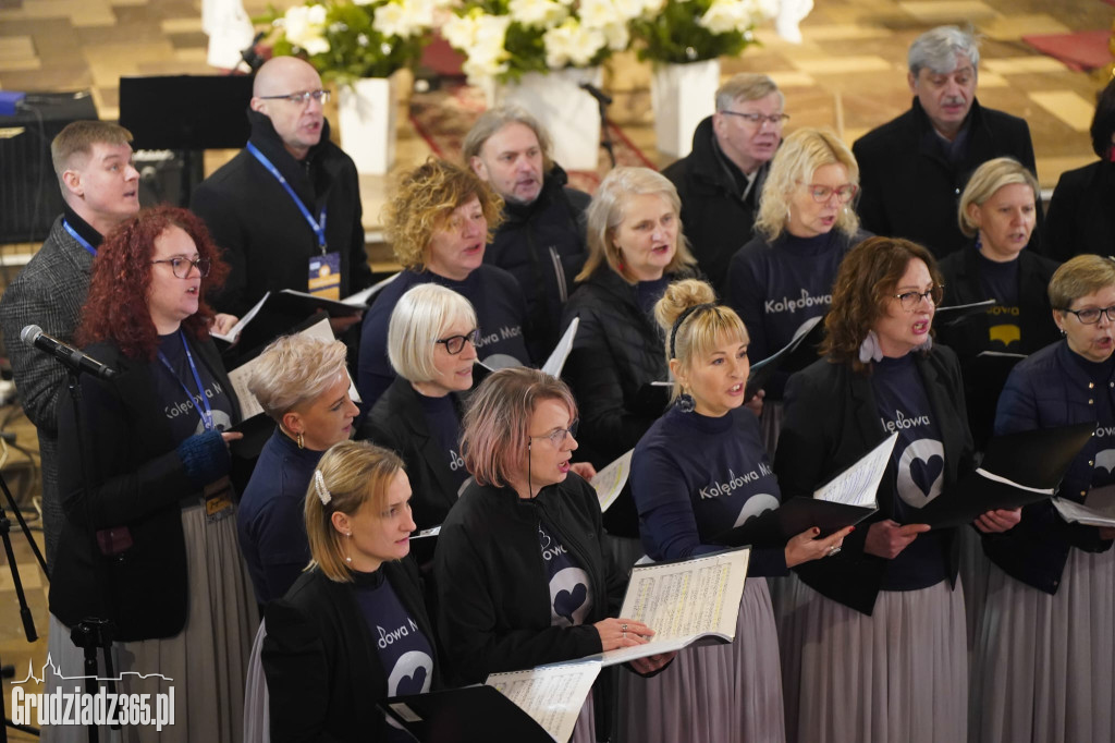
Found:
M 553 743 L 554 740 L 492 686 L 395 696 L 379 702 L 379 708 L 421 743 Z

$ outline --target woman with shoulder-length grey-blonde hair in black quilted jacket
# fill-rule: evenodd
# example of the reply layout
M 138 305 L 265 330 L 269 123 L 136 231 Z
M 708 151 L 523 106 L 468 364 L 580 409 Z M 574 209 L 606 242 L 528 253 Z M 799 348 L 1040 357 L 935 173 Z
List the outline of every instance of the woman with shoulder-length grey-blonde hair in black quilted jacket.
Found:
M 644 167 L 617 167 L 589 206 L 589 260 L 565 307 L 564 326 L 580 318 L 563 378 L 581 409 L 584 457 L 597 469 L 633 448 L 662 414 L 669 379 L 655 302 L 694 259 L 681 233 L 681 203 L 668 180 Z M 618 559 L 640 554 L 630 488 L 604 513 L 608 532 L 626 542 Z

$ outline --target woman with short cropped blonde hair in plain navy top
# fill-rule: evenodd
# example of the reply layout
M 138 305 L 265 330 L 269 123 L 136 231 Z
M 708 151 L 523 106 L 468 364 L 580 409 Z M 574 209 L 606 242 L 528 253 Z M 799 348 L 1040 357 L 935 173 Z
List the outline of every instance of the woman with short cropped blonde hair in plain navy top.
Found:
M 310 560 L 302 504 L 318 460 L 352 434 L 347 348 L 304 335 L 279 338 L 255 359 L 248 387 L 277 424 L 236 512 L 241 550 L 263 605 L 281 598 Z

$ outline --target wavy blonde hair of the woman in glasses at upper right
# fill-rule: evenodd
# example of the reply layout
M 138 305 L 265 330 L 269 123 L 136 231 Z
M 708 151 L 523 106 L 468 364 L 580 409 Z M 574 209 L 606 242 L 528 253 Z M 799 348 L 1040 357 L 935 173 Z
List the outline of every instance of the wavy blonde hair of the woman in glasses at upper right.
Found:
M 828 129 L 806 126 L 783 139 L 763 184 L 755 229 L 767 240 L 777 240 L 789 222 L 789 202 L 794 192 L 807 187 L 824 165 L 843 165 L 847 171 L 847 182 L 860 185 L 860 165 L 855 155 Z M 852 203 L 841 205 L 833 226 L 846 235 L 855 234 L 860 229 L 860 218 Z

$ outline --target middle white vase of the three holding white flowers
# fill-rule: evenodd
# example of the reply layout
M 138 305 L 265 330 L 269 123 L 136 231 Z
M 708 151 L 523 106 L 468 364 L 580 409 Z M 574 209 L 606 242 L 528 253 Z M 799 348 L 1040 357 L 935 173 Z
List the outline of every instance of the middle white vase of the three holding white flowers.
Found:
M 517 105 L 537 118 L 553 139 L 553 158 L 568 171 L 595 171 L 600 157 L 600 107 L 581 89 L 600 87 L 599 67 L 526 73 L 495 91 L 501 105 Z

